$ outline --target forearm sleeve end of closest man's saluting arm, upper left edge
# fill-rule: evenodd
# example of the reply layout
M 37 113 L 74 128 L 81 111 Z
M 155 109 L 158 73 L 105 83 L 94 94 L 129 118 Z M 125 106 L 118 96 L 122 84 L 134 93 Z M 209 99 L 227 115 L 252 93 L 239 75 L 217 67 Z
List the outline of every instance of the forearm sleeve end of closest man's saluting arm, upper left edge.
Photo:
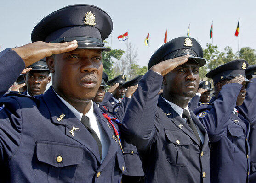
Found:
M 0 52 L 0 97 L 2 97 L 25 67 L 23 59 L 11 48 Z

